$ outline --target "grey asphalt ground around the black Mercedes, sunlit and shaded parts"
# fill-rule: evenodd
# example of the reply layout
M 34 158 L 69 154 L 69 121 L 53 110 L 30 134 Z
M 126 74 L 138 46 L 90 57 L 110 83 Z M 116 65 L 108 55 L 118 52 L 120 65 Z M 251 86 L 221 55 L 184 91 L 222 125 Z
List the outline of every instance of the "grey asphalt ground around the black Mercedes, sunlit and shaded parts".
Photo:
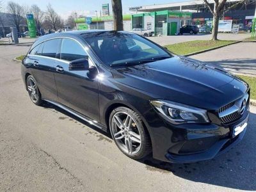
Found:
M 0 46 L 0 191 L 256 190 L 256 108 L 244 140 L 200 163 L 124 156 L 108 134 L 49 104 L 29 100 L 12 61 L 28 47 Z

